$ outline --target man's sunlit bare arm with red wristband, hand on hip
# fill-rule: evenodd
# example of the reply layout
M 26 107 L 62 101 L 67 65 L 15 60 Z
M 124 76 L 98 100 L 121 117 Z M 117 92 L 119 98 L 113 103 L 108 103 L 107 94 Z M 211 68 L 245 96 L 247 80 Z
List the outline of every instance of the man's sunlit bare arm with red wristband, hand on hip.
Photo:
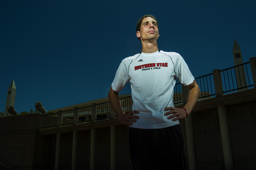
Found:
M 200 88 L 195 80 L 193 83 L 189 84 L 186 87 L 189 89 L 189 94 L 187 97 L 187 103 L 184 106 L 184 108 L 187 110 L 187 113 L 190 114 L 192 109 L 194 108 L 194 106 L 197 103 L 199 93 L 200 93 Z M 164 111 L 168 111 L 168 112 L 164 113 L 165 116 L 172 114 L 172 115 L 168 116 L 168 119 L 176 117 L 173 119 L 173 121 L 176 121 L 178 119 L 186 117 L 186 112 L 184 109 L 168 107 L 168 108 L 165 108 Z

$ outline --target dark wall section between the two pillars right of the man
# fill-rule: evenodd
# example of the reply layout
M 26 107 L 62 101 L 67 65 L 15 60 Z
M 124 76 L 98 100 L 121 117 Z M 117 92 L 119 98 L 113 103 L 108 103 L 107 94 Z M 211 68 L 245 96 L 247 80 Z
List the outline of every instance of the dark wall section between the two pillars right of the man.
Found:
M 198 169 L 224 169 L 217 109 L 193 113 L 193 125 Z

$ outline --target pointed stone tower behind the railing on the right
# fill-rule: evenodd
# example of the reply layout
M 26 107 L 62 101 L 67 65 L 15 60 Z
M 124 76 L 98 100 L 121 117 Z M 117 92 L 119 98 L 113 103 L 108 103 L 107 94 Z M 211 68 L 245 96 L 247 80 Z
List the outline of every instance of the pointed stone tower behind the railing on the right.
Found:
M 242 53 L 241 53 L 241 48 L 238 45 L 238 42 L 236 40 L 236 38 L 234 39 L 234 43 L 233 43 L 233 59 L 234 59 L 234 66 L 243 64 L 243 57 L 242 57 Z M 243 88 L 247 86 L 247 80 L 246 80 L 246 76 L 245 76 L 245 70 L 244 70 L 244 66 L 238 66 L 235 69 L 236 72 L 236 79 L 237 79 L 237 85 L 238 88 Z M 246 89 L 246 88 L 244 88 Z M 242 90 L 242 89 L 240 89 Z M 240 91 L 239 90 L 239 91 Z

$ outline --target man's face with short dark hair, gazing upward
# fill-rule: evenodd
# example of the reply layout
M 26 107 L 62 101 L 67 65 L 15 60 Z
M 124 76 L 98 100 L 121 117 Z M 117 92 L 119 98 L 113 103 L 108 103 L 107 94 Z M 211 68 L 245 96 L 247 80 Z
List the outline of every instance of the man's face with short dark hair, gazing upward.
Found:
M 157 40 L 159 31 L 156 20 L 152 17 L 146 17 L 142 20 L 140 31 L 137 31 L 137 37 L 144 40 Z

